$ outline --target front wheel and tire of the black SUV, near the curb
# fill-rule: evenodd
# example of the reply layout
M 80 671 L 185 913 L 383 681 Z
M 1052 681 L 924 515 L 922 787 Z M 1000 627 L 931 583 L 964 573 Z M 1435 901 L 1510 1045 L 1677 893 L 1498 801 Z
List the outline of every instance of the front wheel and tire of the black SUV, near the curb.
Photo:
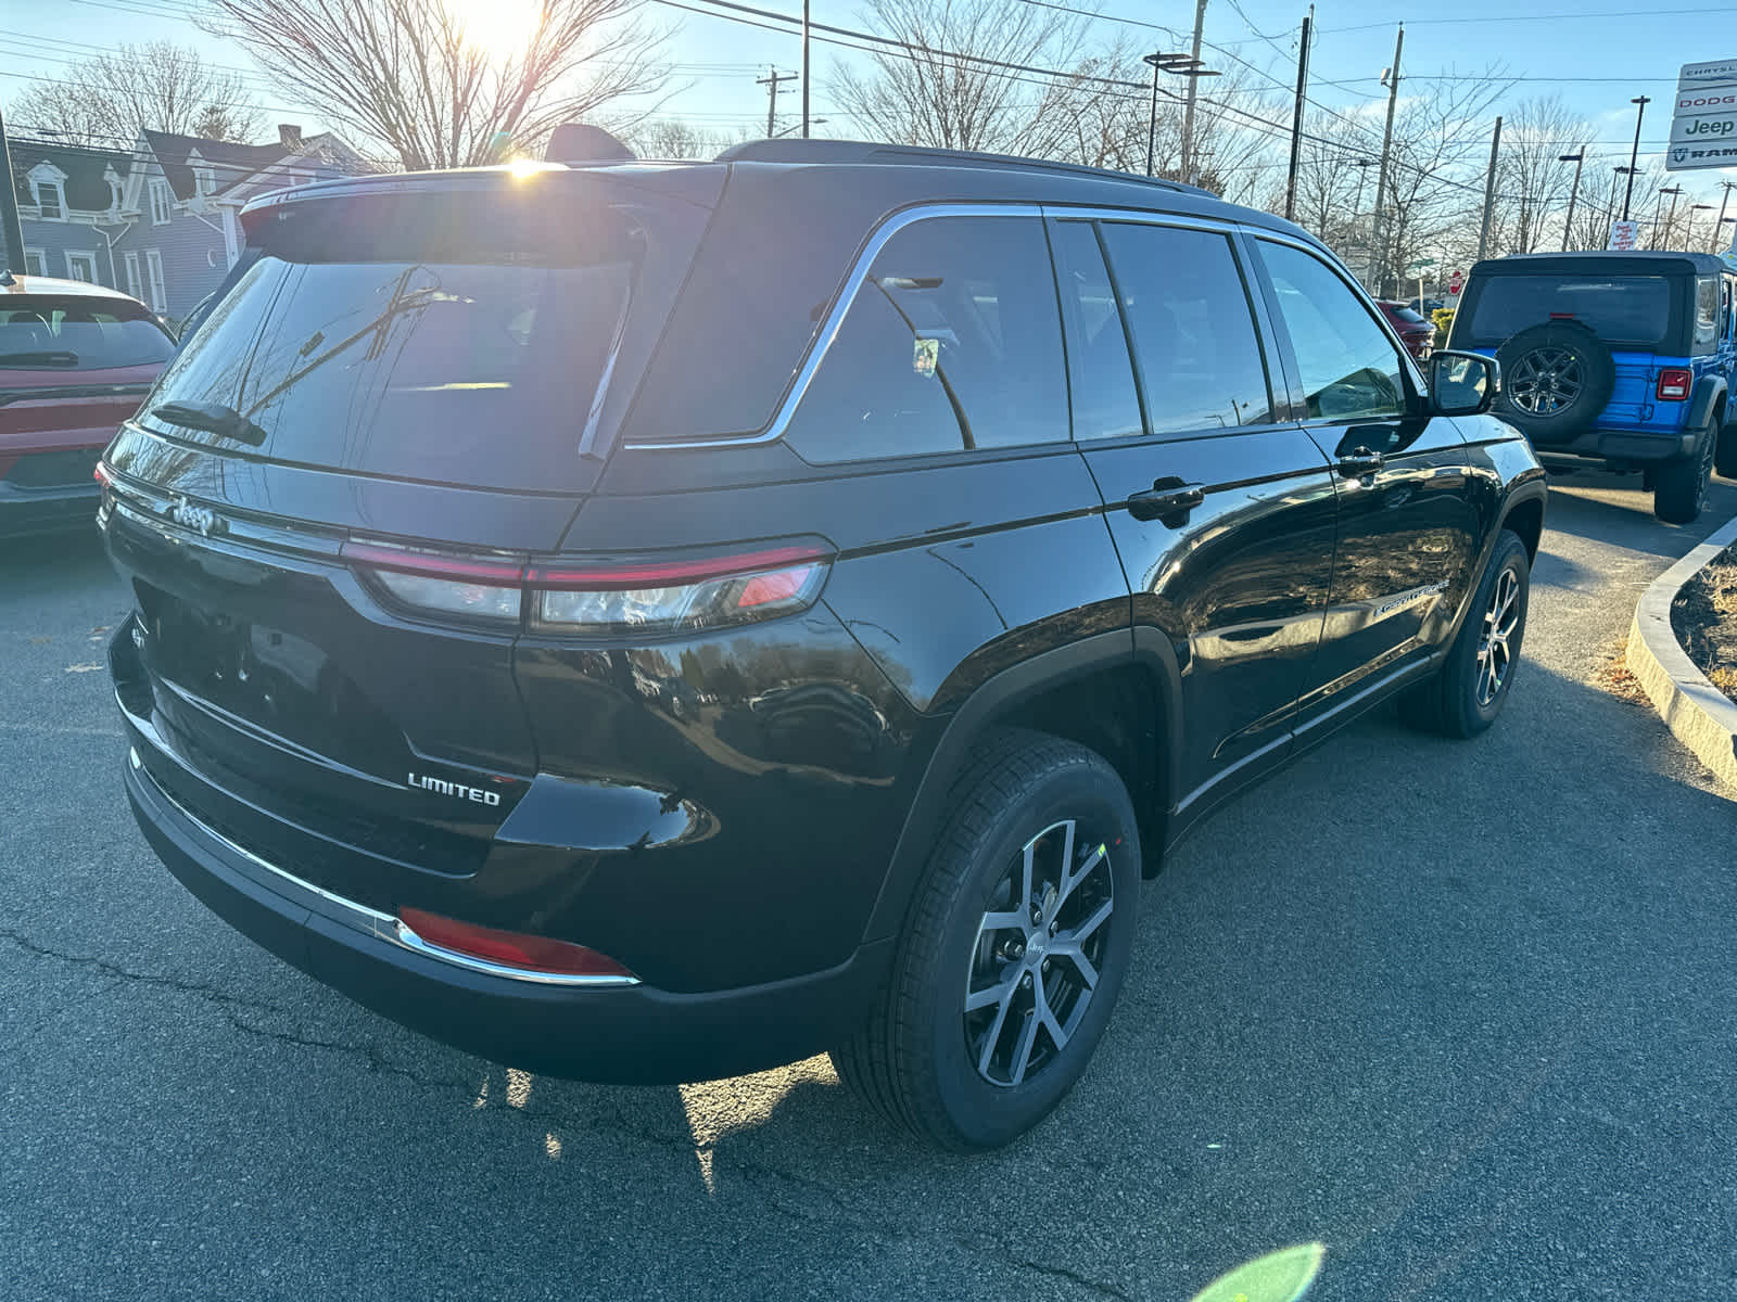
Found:
M 1400 698 L 1407 722 L 1450 738 L 1473 738 L 1496 722 L 1520 667 L 1530 587 L 1525 543 L 1513 529 L 1503 529 L 1447 661 L 1435 677 Z M 1492 623 L 1506 630 L 1494 642 L 1489 637 Z M 1497 654 L 1490 654 L 1492 648 Z

